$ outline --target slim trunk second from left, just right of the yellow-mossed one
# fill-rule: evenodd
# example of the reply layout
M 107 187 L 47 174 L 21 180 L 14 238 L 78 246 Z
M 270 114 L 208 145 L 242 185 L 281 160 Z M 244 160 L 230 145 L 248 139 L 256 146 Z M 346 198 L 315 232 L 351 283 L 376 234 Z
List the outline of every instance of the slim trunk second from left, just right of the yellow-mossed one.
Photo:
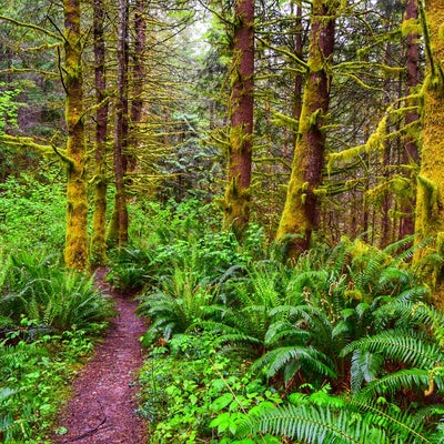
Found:
M 103 0 L 94 0 L 95 101 L 99 105 L 95 112 L 95 186 L 91 240 L 91 261 L 94 265 L 102 265 L 107 259 L 107 171 L 104 155 L 108 134 L 108 102 L 102 103 L 107 97 L 103 20 Z

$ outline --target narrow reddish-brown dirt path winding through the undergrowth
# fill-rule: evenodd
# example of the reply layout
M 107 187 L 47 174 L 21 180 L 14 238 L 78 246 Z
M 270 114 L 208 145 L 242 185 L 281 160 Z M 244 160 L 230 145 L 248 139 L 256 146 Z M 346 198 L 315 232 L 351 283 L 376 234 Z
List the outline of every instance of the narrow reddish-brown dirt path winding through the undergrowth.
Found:
M 79 372 L 72 398 L 59 416 L 51 436 L 53 444 L 141 444 L 147 442 L 145 424 L 137 413 L 138 371 L 143 355 L 139 337 L 147 331 L 134 314 L 137 302 L 115 292 L 105 282 L 105 270 L 95 274 L 97 286 L 115 300 L 118 315 L 112 320 L 94 356 Z M 60 432 L 59 432 L 60 433 Z

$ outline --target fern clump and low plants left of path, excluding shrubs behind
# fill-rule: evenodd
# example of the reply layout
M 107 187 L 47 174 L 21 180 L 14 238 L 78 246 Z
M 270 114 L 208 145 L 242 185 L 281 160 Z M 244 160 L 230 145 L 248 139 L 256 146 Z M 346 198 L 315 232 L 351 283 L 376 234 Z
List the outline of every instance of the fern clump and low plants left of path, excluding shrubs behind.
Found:
M 44 443 L 112 302 L 54 255 L 4 256 L 0 279 L 0 441 Z

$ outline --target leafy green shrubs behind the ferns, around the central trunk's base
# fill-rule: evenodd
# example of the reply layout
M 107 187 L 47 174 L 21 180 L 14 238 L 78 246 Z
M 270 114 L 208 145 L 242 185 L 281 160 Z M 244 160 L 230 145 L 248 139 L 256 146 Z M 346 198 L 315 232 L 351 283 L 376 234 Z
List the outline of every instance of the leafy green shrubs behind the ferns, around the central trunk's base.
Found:
M 209 206 L 196 200 L 165 208 L 151 204 L 133 243 L 112 258 L 110 282 L 121 289 L 155 292 L 159 276 L 172 275 L 175 268 L 192 273 L 201 286 L 211 285 L 233 265 L 263 258 L 263 231 L 253 225 L 241 245 L 233 233 L 214 230 Z M 147 226 L 152 230 L 147 233 Z M 140 228 L 142 230 L 142 228 Z M 142 234 L 144 239 L 140 239 Z

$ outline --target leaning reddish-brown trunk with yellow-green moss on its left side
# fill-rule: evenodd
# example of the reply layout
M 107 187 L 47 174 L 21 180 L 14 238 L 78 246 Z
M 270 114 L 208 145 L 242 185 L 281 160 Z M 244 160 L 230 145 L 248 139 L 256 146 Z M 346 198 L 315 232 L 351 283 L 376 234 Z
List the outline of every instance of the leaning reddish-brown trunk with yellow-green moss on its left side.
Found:
M 284 210 L 276 233 L 278 240 L 292 235 L 289 256 L 296 256 L 309 248 L 311 234 L 319 223 L 316 189 L 322 181 L 324 164 L 323 127 L 329 110 L 335 9 L 335 0 L 312 2 L 303 104 Z

